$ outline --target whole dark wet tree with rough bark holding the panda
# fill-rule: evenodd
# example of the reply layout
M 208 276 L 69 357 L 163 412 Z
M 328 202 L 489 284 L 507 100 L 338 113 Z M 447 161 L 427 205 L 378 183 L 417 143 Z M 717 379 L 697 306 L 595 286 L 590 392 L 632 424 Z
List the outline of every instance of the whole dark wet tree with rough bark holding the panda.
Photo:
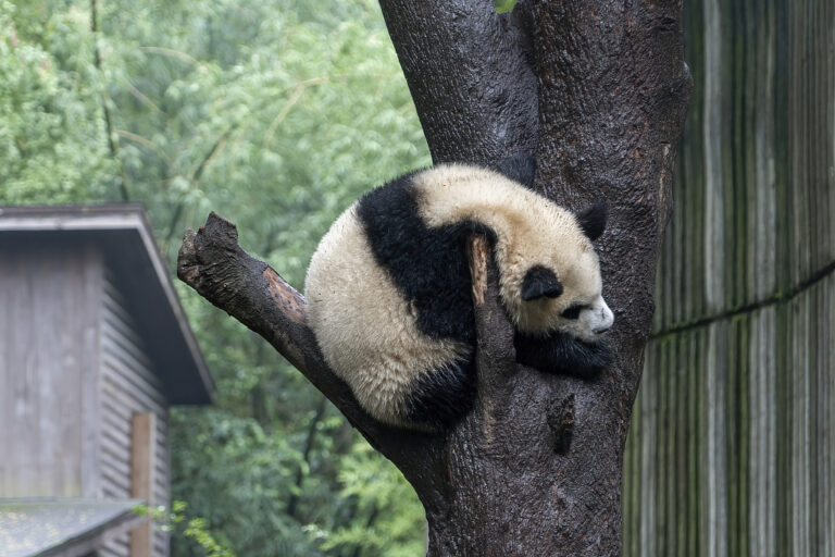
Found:
M 266 338 L 402 470 L 431 556 L 619 555 L 622 460 L 690 88 L 681 0 L 381 0 L 435 162 L 535 154 L 535 189 L 606 201 L 598 240 L 615 363 L 582 381 L 515 363 L 487 244 L 473 238 L 478 399 L 444 435 L 370 418 L 324 363 L 303 297 L 212 213 L 178 274 Z

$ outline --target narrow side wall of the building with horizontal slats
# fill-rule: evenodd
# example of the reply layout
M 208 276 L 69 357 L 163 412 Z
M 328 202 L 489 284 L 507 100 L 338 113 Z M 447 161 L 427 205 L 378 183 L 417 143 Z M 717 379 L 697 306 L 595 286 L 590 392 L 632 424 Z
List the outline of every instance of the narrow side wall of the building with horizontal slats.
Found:
M 102 290 L 101 399 L 102 494 L 130 497 L 130 428 L 134 412 L 157 414 L 154 505 L 169 505 L 169 407 L 152 372 L 127 304 L 105 273 Z M 155 556 L 169 553 L 167 534 L 154 533 Z M 127 535 L 111 542 L 104 556 L 128 556 Z

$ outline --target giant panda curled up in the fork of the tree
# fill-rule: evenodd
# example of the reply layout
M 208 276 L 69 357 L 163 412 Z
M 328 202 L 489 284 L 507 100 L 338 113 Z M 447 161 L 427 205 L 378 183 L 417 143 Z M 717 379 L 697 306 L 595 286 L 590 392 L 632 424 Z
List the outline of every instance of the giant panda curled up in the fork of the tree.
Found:
M 361 197 L 334 222 L 306 278 L 325 361 L 388 424 L 452 425 L 475 398 L 465 246 L 485 234 L 521 363 L 589 377 L 609 362 L 613 315 L 591 242 L 606 209 L 579 215 L 485 168 L 441 164 Z

